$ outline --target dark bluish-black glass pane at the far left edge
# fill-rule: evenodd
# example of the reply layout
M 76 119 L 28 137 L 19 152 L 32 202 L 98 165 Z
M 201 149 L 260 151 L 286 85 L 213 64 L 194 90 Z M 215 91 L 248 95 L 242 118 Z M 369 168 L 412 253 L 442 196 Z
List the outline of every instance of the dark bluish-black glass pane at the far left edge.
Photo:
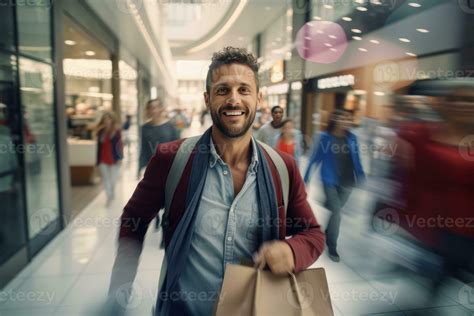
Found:
M 16 67 L 15 56 L 0 53 L 0 265 L 26 244 Z

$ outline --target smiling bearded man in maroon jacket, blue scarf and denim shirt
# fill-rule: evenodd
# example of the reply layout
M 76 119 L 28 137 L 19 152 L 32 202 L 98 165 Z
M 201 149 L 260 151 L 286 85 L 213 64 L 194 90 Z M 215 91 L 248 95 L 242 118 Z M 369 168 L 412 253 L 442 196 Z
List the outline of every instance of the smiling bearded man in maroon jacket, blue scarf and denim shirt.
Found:
M 292 157 L 265 149 L 250 128 L 262 94 L 255 57 L 214 54 L 204 100 L 213 125 L 199 139 L 165 211 L 165 262 L 156 315 L 211 315 L 226 264 L 253 259 L 275 274 L 299 272 L 321 254 L 324 236 Z M 160 144 L 125 206 L 110 294 L 133 281 L 149 222 L 166 206 L 169 170 L 185 140 Z M 285 201 L 271 154 L 289 176 Z M 285 205 L 287 204 L 287 205 Z M 125 223 L 139 220 L 138 228 Z M 242 302 L 243 303 L 243 302 Z

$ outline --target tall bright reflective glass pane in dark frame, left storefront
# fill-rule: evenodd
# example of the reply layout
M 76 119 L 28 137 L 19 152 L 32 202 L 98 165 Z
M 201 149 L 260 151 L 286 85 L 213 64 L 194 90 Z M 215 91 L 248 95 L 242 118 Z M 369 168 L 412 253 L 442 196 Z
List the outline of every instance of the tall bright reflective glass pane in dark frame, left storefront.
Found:
M 59 217 L 53 71 L 49 64 L 20 58 L 24 172 L 29 238 L 49 234 Z

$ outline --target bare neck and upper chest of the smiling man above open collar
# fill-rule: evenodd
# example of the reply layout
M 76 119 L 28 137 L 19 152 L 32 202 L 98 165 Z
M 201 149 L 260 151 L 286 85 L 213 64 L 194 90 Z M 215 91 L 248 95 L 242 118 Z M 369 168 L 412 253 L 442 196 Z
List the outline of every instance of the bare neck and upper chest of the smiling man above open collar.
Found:
M 237 166 L 242 162 L 250 164 L 250 157 L 252 154 L 251 131 L 242 137 L 228 138 L 222 135 L 222 133 L 217 128 L 212 127 L 211 136 L 217 153 L 230 167 Z

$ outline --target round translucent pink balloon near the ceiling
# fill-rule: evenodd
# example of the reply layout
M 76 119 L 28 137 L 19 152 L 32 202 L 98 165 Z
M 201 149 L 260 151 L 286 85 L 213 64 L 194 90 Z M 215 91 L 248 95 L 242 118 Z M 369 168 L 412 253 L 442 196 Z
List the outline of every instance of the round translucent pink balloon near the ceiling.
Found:
M 296 35 L 296 49 L 301 58 L 320 64 L 337 62 L 347 48 L 344 29 L 330 21 L 311 21 Z

